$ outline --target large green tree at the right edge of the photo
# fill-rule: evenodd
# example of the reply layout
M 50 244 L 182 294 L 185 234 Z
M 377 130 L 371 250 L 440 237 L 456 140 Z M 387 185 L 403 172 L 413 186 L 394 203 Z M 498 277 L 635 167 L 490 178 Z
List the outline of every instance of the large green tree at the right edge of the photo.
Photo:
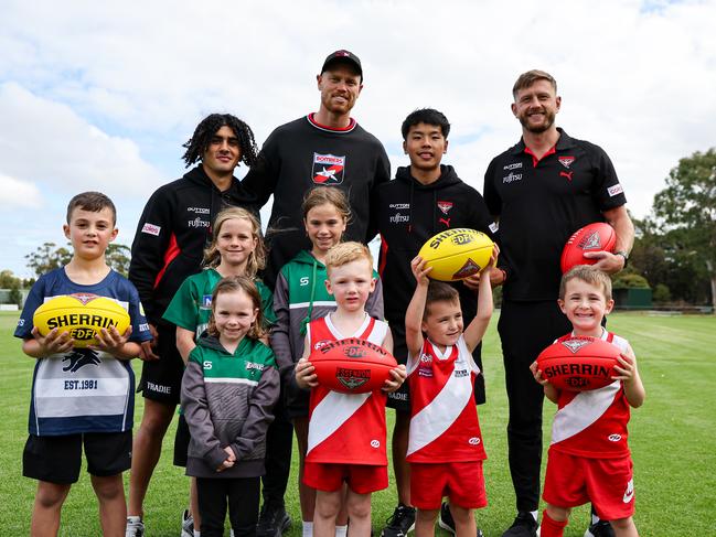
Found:
M 654 214 L 672 253 L 691 258 L 694 270 L 709 281 L 716 309 L 716 149 L 696 151 L 678 161 L 666 178 L 666 189 L 654 196 Z M 672 289 L 673 291 L 673 289 Z

